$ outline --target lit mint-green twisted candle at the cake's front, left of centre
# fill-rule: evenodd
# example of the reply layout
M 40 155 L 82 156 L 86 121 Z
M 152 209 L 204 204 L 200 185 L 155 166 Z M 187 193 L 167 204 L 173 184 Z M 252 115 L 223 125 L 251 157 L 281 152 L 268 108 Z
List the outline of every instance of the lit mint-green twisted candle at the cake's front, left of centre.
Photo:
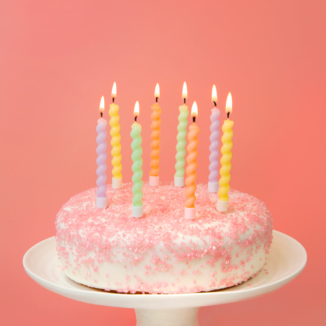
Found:
M 132 166 L 131 169 L 133 171 L 132 176 L 132 217 L 141 217 L 143 215 L 143 205 L 142 205 L 142 186 L 143 182 L 141 180 L 143 171 L 142 171 L 142 148 L 141 148 L 141 125 L 137 122 L 137 116 L 139 116 L 139 103 L 138 101 L 135 104 L 134 109 L 134 117 L 135 122 L 131 126 L 130 136 L 132 138 L 131 148 L 132 148 Z

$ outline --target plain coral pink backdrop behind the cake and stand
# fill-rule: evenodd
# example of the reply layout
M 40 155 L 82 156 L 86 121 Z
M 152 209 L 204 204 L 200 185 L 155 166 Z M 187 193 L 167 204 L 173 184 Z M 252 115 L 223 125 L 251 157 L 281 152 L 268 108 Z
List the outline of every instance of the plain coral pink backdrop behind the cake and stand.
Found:
M 230 186 L 266 202 L 274 229 L 307 250 L 307 266 L 273 293 L 200 308 L 199 325 L 322 325 L 325 299 L 325 1 L 9 1 L 0 6 L 1 305 L 5 325 L 135 325 L 132 309 L 79 303 L 37 285 L 23 254 L 54 235 L 72 195 L 95 186 L 96 120 L 117 82 L 123 180 L 130 126 L 161 89 L 162 181 L 172 180 L 178 106 L 187 82 L 200 127 L 198 181 L 208 179 L 215 83 L 221 121 L 229 91 Z M 108 150 L 108 179 L 111 159 Z M 319 281 L 321 279 L 321 281 Z

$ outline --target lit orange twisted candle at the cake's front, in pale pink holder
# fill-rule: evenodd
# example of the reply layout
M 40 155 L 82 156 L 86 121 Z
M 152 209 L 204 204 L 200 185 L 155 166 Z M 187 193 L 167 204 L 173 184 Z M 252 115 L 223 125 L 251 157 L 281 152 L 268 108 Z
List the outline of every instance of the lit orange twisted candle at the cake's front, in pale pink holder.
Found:
M 196 186 L 196 168 L 198 166 L 196 158 L 198 156 L 197 146 L 198 146 L 198 133 L 199 128 L 196 125 L 196 117 L 198 115 L 197 103 L 194 102 L 191 108 L 191 117 L 192 117 L 192 125 L 189 126 L 188 132 L 188 141 L 189 144 L 187 146 L 188 156 L 187 163 L 188 166 L 186 168 L 187 178 L 185 179 L 185 185 L 187 188 L 185 189 L 185 218 L 186 219 L 194 219 L 196 217 L 196 207 L 195 207 L 195 191 L 197 189 Z

